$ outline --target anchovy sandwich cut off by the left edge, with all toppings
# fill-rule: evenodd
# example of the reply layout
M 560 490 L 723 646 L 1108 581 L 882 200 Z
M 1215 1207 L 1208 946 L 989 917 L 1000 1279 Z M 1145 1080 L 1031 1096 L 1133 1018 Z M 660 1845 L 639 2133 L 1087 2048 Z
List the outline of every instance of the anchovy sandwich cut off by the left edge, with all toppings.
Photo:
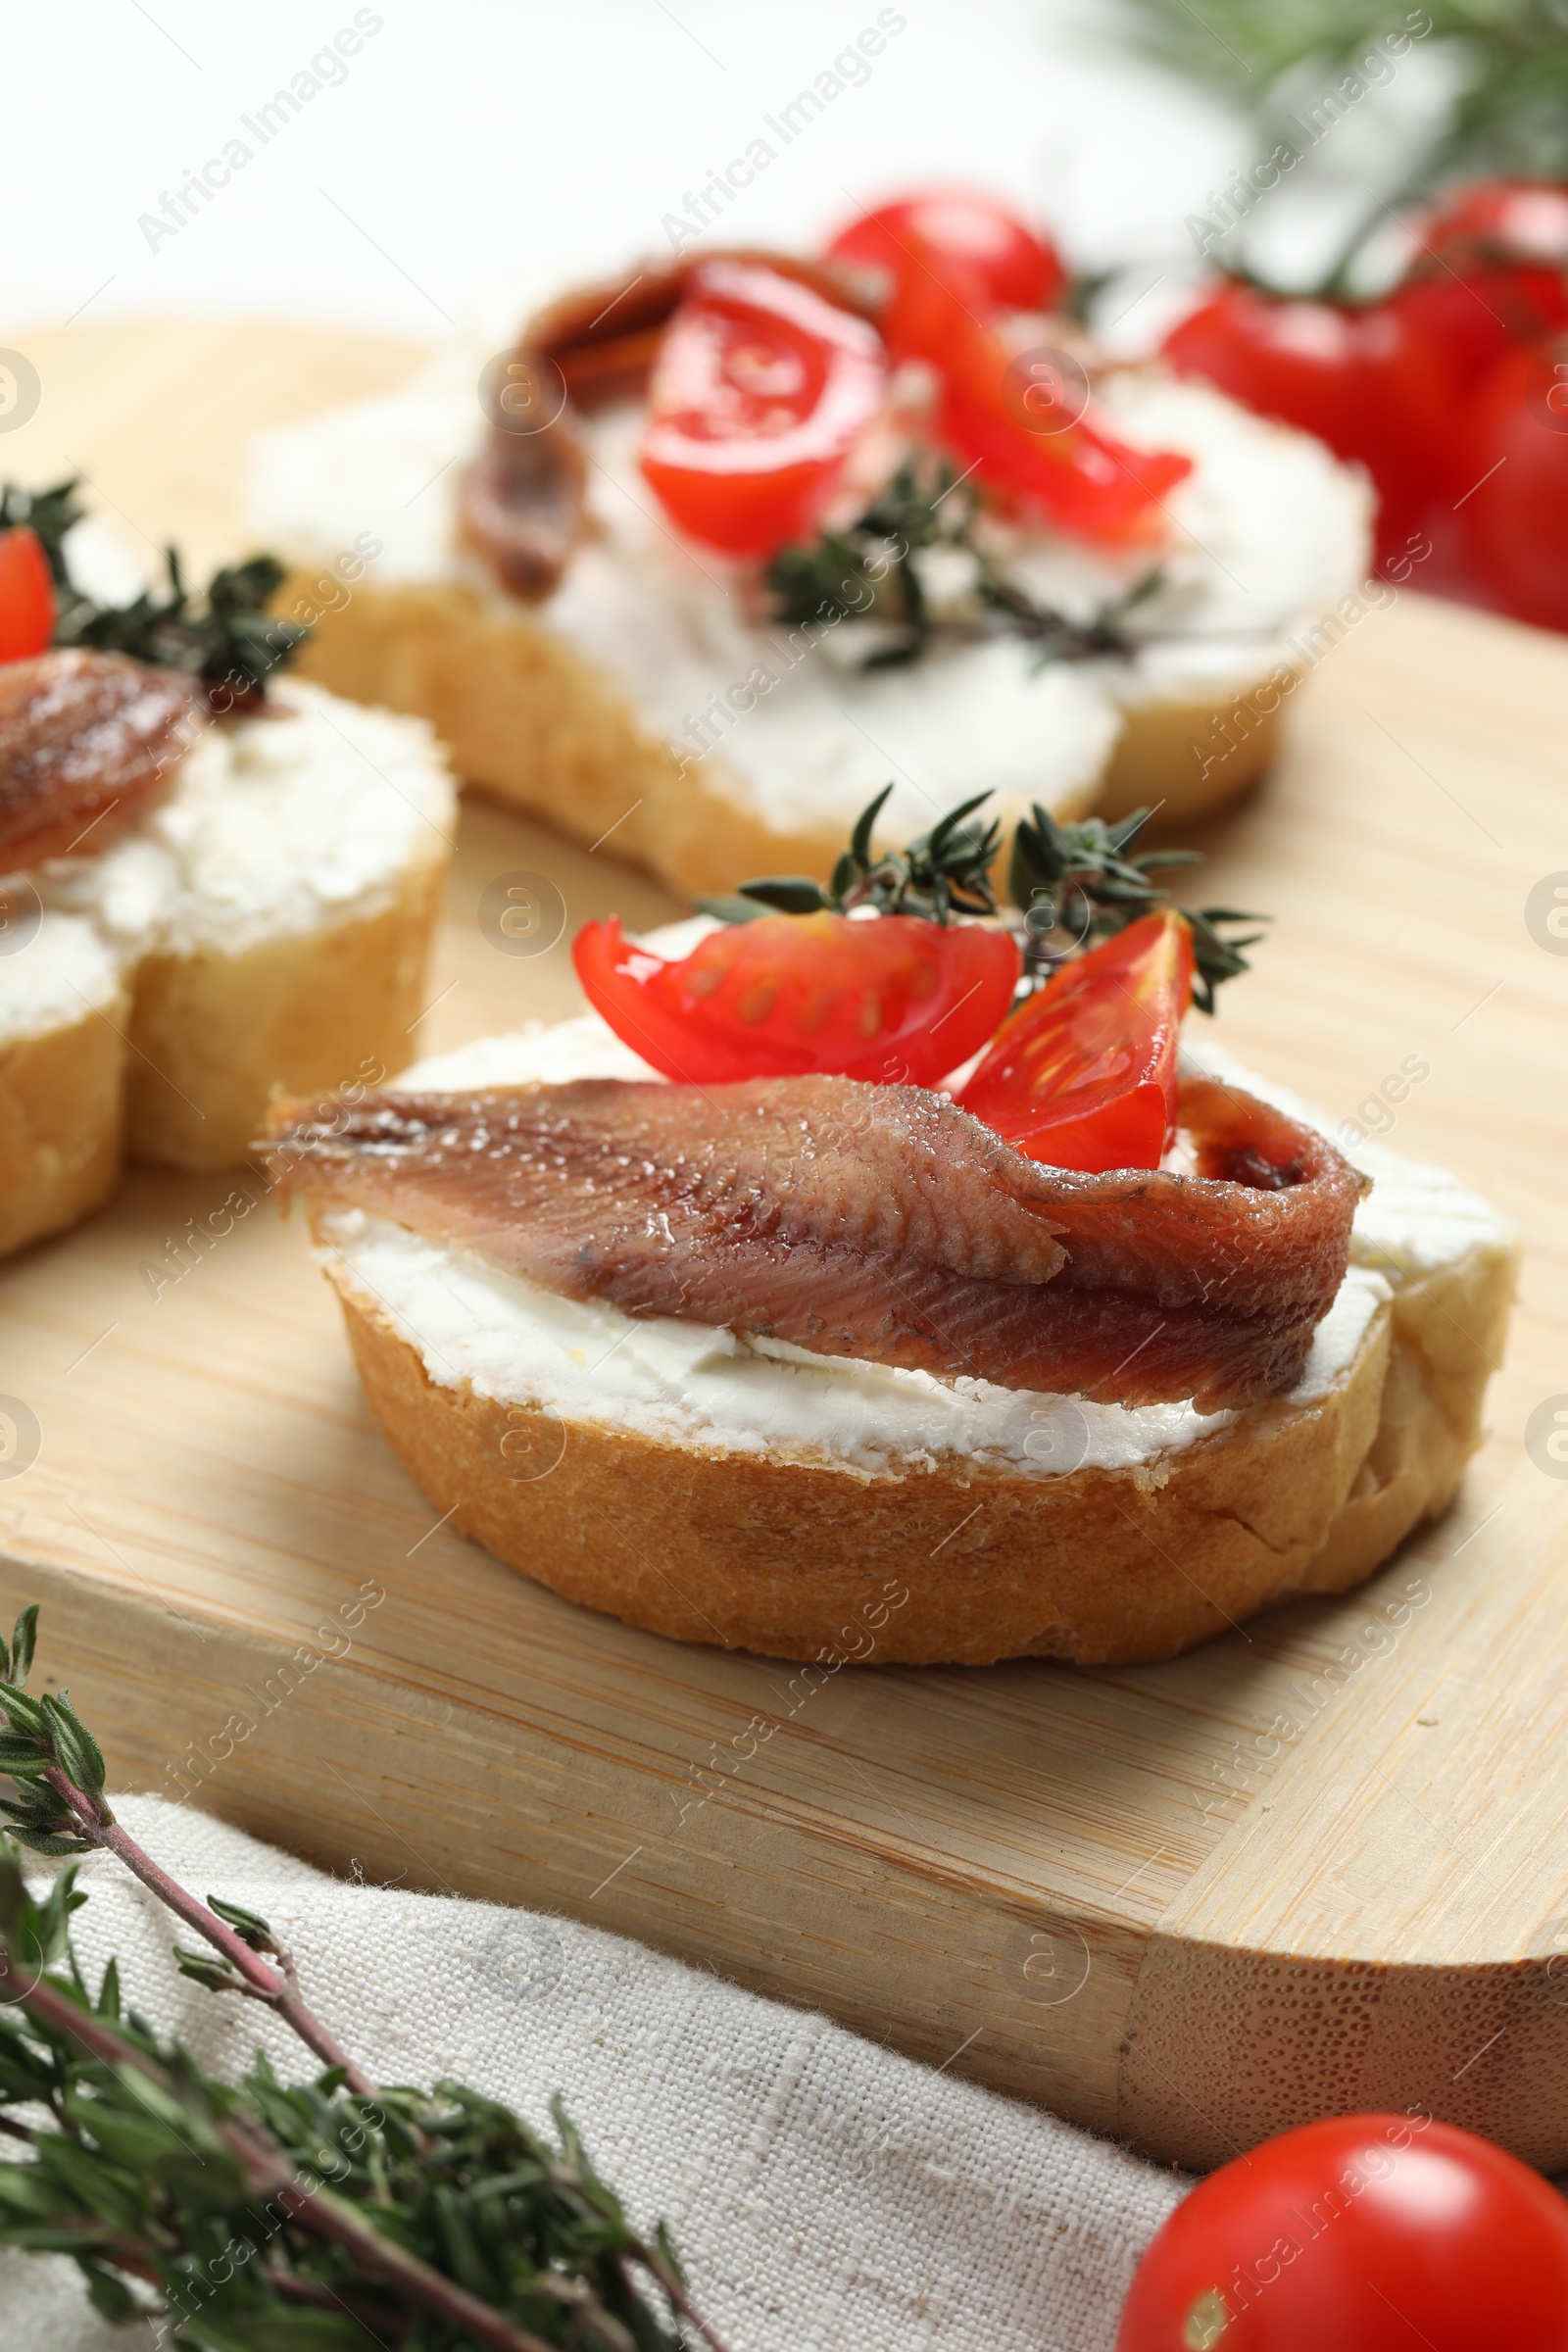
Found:
M 78 522 L 0 489 L 0 1251 L 395 1065 L 451 847 L 421 720 L 277 677 L 275 564 L 96 602 Z

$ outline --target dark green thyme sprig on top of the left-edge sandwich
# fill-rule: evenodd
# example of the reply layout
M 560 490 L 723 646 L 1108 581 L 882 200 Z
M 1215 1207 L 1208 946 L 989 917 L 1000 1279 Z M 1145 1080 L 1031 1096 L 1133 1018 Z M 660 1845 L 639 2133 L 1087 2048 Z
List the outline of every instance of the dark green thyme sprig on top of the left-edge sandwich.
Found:
M 66 555 L 66 534 L 87 513 L 75 492 L 75 477 L 31 492 L 14 482 L 0 485 L 0 532 L 26 522 L 38 532 L 49 560 L 56 600 L 54 642 L 186 670 L 207 684 L 214 708 L 237 710 L 259 703 L 273 670 L 292 661 L 310 635 L 299 621 L 275 619 L 266 609 L 282 583 L 282 564 L 273 555 L 223 564 L 212 574 L 205 595 L 195 595 L 181 572 L 179 550 L 165 548 L 162 595 L 143 590 L 129 604 L 99 604 L 73 581 Z

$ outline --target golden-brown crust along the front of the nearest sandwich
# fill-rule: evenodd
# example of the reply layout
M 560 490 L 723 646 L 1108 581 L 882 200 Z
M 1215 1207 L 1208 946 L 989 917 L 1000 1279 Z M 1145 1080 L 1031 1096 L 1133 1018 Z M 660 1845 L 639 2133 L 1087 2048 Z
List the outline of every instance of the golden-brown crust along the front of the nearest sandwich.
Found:
M 860 1646 L 846 1628 L 882 1602 L 872 1656 L 912 1665 L 1171 1658 L 1265 1602 L 1331 1590 L 1333 1534 L 1378 1439 L 1394 1329 L 1378 1308 L 1321 1402 L 1274 1399 L 1147 1465 L 865 1475 L 437 1388 L 374 1303 L 350 1282 L 339 1291 L 393 1449 L 430 1505 L 498 1559 L 651 1632 L 776 1658 Z M 1389 1541 L 1422 1496 L 1401 1491 L 1399 1510 Z M 1356 1559 L 1342 1581 L 1363 1573 Z

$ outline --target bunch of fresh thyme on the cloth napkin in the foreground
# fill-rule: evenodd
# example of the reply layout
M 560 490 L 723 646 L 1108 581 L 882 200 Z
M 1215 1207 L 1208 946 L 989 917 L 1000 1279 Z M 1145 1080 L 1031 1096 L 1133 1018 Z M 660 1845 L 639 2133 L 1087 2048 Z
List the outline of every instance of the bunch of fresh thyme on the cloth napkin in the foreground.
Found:
M 115 1823 L 66 1693 L 26 1689 L 38 1609 L 0 1639 L 0 2246 L 66 2253 L 106 2319 L 176 2352 L 724 2352 L 663 2225 L 637 2232 L 559 2100 L 555 2140 L 463 2084 L 383 2089 L 306 2009 L 256 1912 L 200 1903 Z M 96 1992 L 71 1947 L 71 1863 L 38 1896 L 19 1846 L 113 1851 L 209 1952 L 212 1990 L 268 2002 L 315 2051 L 306 2084 L 256 2056 L 221 2082 Z M 273 1966 L 275 1962 L 275 1966 Z

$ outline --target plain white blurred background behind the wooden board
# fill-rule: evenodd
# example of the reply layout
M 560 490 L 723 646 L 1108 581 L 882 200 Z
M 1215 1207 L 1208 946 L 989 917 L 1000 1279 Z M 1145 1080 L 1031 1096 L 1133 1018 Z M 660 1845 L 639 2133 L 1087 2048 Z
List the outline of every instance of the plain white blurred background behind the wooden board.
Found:
M 757 136 L 778 155 L 729 235 L 809 242 L 947 176 L 1039 212 L 1081 266 L 1150 256 L 1145 282 L 1180 278 L 1182 219 L 1248 139 L 1119 52 L 1107 0 L 905 0 L 870 78 L 783 148 L 762 118 L 877 5 L 381 0 L 346 78 L 256 148 L 240 118 L 355 0 L 0 0 L 0 332 L 221 310 L 442 334 L 557 263 L 668 249 L 663 216 Z M 252 160 L 150 245 L 139 216 L 235 134 Z

